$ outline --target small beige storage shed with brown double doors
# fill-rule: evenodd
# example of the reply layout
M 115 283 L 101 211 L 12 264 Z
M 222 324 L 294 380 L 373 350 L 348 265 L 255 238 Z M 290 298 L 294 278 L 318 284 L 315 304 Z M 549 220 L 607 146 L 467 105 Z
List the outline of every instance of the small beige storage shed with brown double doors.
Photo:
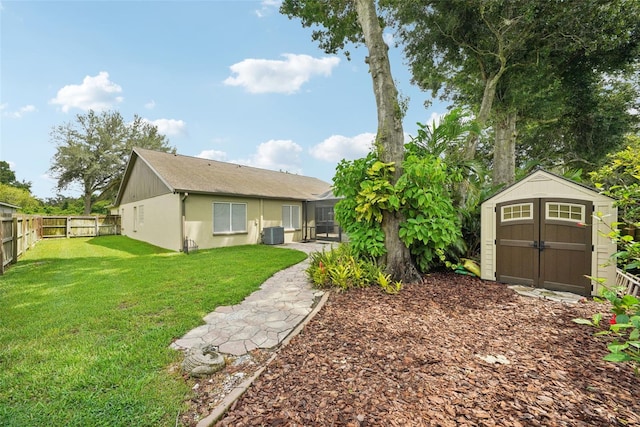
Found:
M 615 284 L 616 245 L 604 236 L 618 219 L 613 202 L 551 172 L 532 172 L 482 203 L 481 277 L 597 295 L 585 276 Z

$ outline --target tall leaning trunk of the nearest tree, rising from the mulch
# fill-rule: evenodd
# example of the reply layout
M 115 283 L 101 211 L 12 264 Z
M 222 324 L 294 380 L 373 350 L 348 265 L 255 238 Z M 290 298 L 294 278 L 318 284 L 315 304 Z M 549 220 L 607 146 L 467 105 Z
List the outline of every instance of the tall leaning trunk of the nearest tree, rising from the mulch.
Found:
M 388 50 L 382 38 L 382 28 L 374 0 L 355 0 L 358 22 L 362 27 L 365 44 L 369 51 L 367 63 L 373 80 L 373 92 L 378 110 L 378 133 L 376 149 L 380 160 L 394 162 L 395 174 L 392 184 L 402 175 L 404 160 L 404 132 L 402 112 L 398 103 L 398 90 L 391 75 Z M 420 280 L 420 274 L 411 260 L 409 248 L 400 240 L 400 223 L 404 220 L 399 213 L 383 212 L 382 229 L 387 250 L 386 271 L 393 280 L 405 283 Z

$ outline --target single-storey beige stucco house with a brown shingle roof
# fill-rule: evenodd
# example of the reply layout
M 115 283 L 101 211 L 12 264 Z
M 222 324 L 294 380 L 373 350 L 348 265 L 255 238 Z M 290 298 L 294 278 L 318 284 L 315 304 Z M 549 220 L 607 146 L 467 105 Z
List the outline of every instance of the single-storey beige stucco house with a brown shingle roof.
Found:
M 289 243 L 315 236 L 315 203 L 332 209 L 330 191 L 316 178 L 134 148 L 112 212 L 122 234 L 175 251 Z

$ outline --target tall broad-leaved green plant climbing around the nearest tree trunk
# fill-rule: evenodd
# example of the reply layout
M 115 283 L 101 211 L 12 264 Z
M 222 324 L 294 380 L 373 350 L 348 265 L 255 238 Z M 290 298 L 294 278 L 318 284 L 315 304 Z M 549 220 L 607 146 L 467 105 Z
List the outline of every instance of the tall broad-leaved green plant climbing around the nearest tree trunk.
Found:
M 406 220 L 400 239 L 411 250 L 416 264 L 428 271 L 444 251 L 461 239 L 457 211 L 449 194 L 444 162 L 435 156 L 408 152 L 403 174 L 391 184 L 393 163 L 383 163 L 374 154 L 354 161 L 343 160 L 334 177 L 334 191 L 344 198 L 336 205 L 336 218 L 343 226 L 357 256 L 385 254 L 382 216 L 397 212 Z

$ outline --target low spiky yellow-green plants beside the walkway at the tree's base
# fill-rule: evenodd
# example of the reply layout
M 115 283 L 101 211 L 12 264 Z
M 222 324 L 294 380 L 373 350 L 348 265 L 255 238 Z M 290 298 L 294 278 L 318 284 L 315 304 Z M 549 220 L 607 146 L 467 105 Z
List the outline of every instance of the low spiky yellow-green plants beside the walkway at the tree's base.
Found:
M 330 251 L 314 252 L 310 257 L 307 274 L 316 287 L 346 291 L 377 284 L 389 294 L 402 288 L 400 283 L 392 282 L 372 258 L 359 257 L 348 243 Z

